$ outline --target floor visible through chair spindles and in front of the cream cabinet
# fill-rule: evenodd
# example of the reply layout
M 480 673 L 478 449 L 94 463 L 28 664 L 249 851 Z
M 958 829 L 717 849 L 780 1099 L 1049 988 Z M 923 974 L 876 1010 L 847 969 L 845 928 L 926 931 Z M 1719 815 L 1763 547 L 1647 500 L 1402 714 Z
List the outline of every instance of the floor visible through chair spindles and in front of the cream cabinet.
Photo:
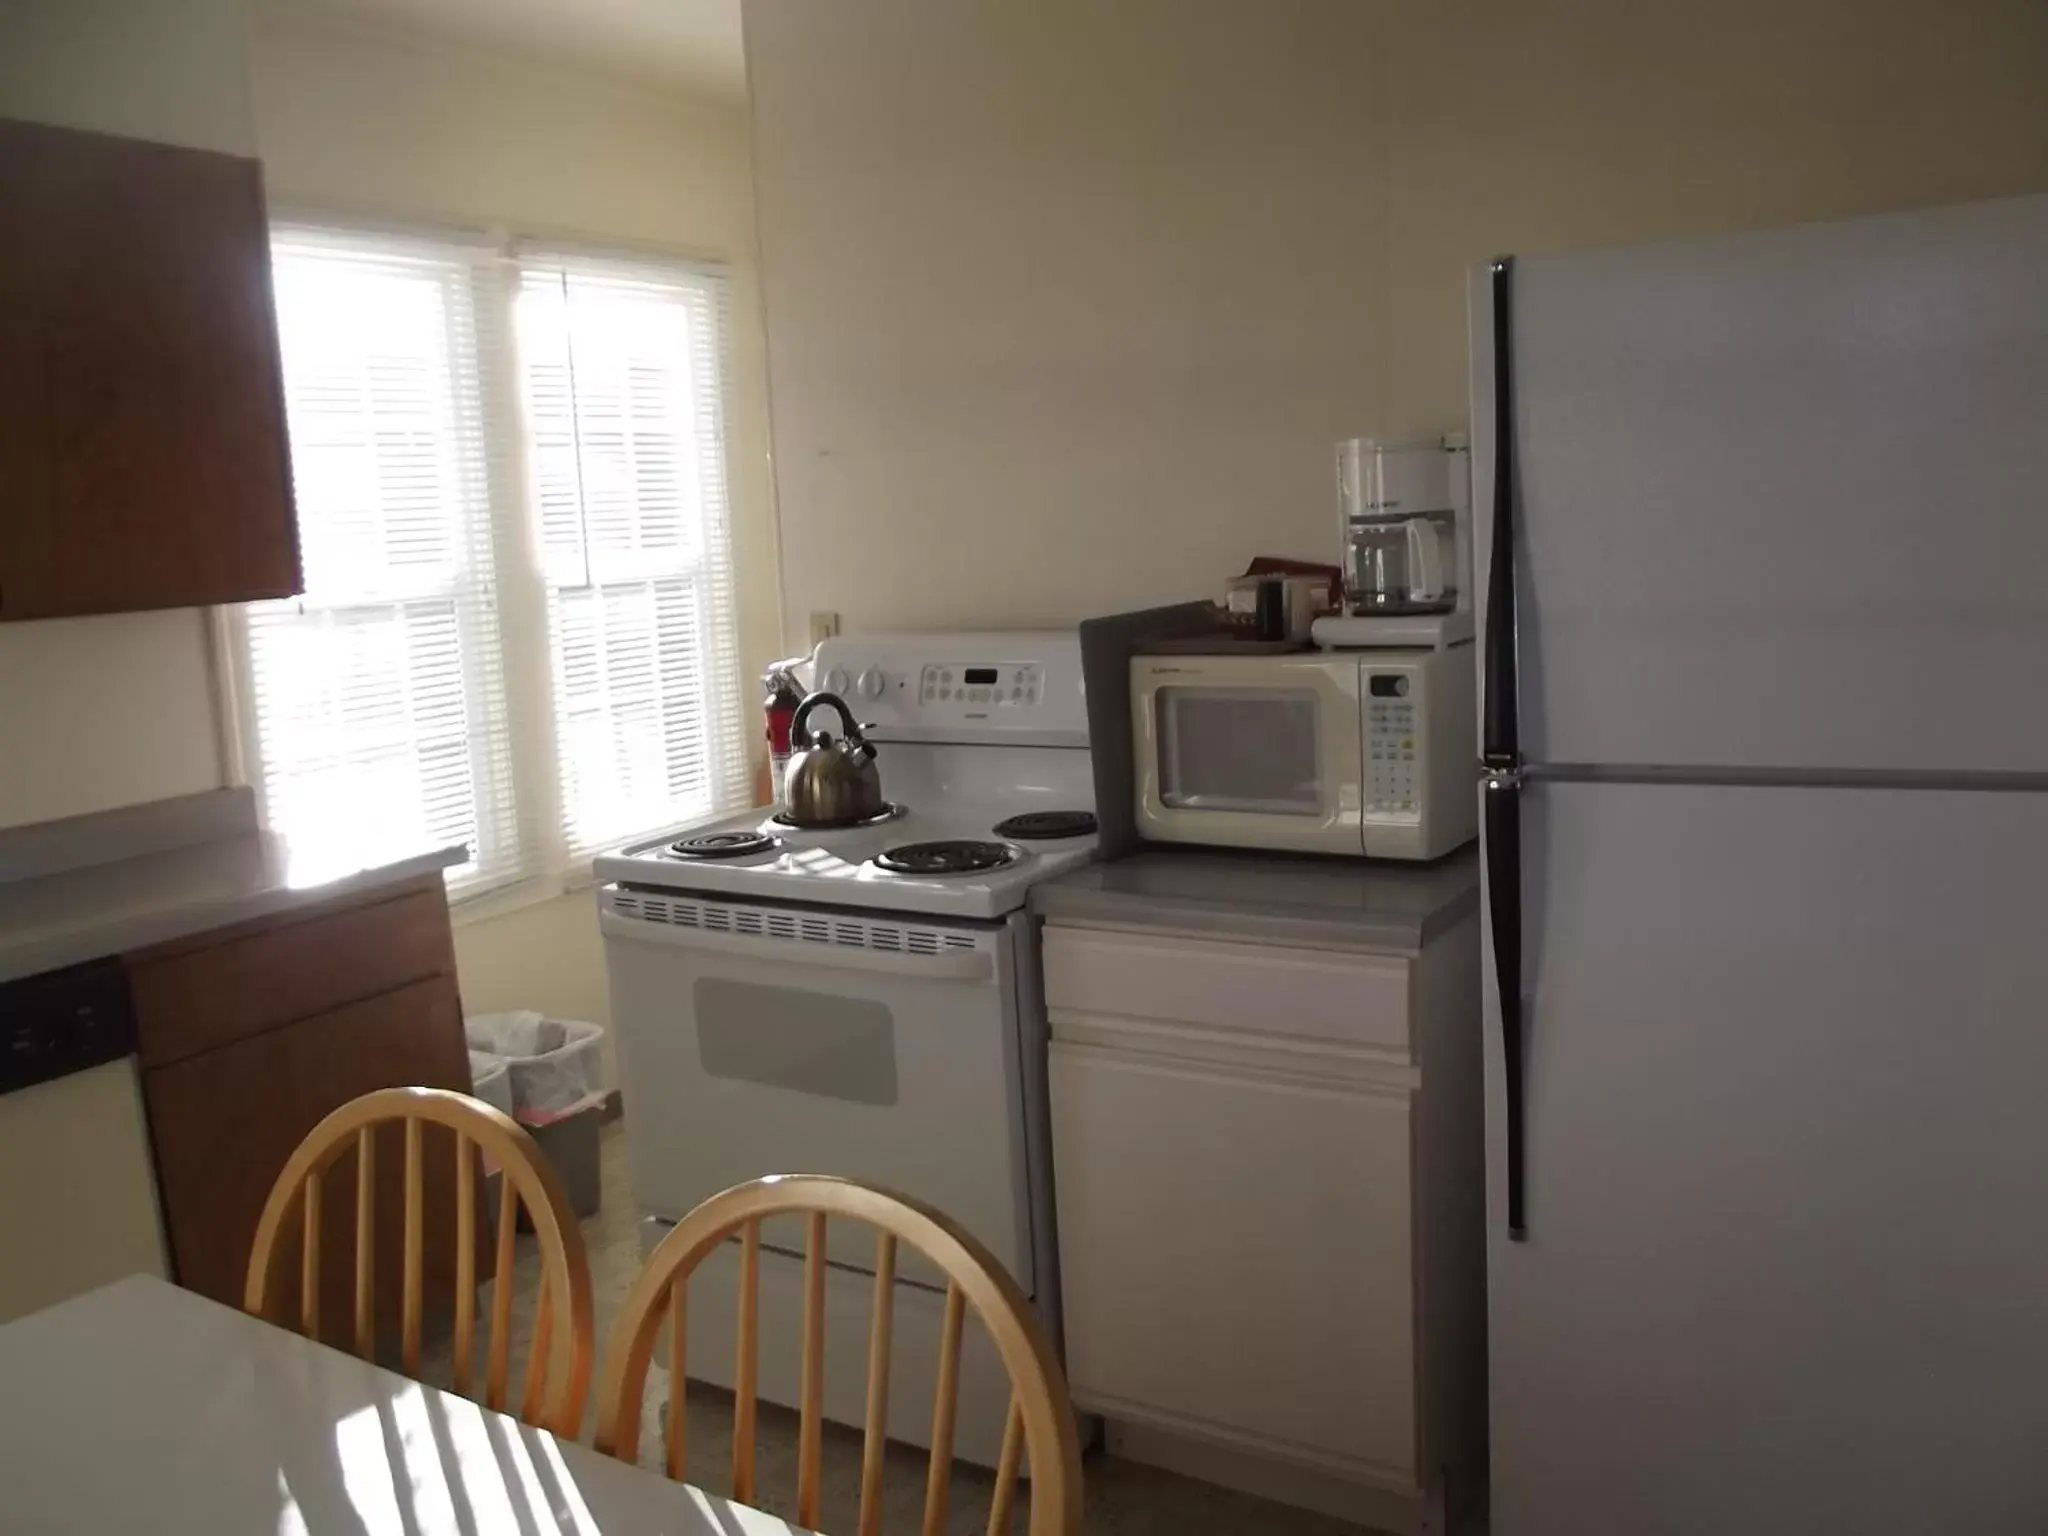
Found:
M 604 1206 L 584 1223 L 584 1241 L 590 1249 L 592 1290 L 598 1352 L 610 1337 L 612 1321 L 625 1300 L 633 1276 L 639 1274 L 639 1212 L 633 1208 L 633 1192 L 627 1178 L 627 1126 L 612 1122 L 604 1128 Z M 514 1272 L 518 1286 L 512 1298 L 512 1360 L 514 1386 L 524 1380 L 526 1346 L 532 1329 L 532 1300 L 539 1284 L 539 1255 L 532 1237 L 522 1237 L 518 1266 Z M 479 1317 L 487 1317 L 487 1298 L 479 1298 Z M 446 1343 L 428 1352 L 422 1362 L 422 1376 L 432 1382 L 449 1380 Z M 649 1407 L 643 1413 L 641 1462 L 659 1468 L 659 1403 L 666 1397 L 666 1382 L 649 1384 Z M 592 1386 L 592 1399 L 596 1391 Z M 692 1483 L 723 1493 L 731 1485 L 731 1395 L 717 1386 L 692 1382 L 688 1389 L 688 1466 Z M 584 1442 L 596 1434 L 598 1411 L 592 1401 L 584 1415 Z M 793 1491 L 797 1487 L 797 1415 L 770 1403 L 760 1405 L 760 1425 L 756 1434 L 756 1503 L 778 1516 L 793 1516 Z M 913 1446 L 891 1446 L 887 1466 L 887 1530 L 918 1530 L 924 1509 L 926 1456 Z M 823 1460 L 823 1530 L 852 1530 L 860 1487 L 860 1434 L 840 1425 L 825 1425 Z M 987 1528 L 989 1489 L 993 1475 L 956 1462 L 952 1470 L 952 1493 L 948 1499 L 948 1534 L 981 1536 Z M 1286 1505 L 1253 1499 L 1243 1493 L 1196 1483 L 1174 1473 L 1163 1473 L 1137 1462 L 1126 1462 L 1104 1452 L 1087 1456 L 1085 1464 L 1087 1511 L 1083 1532 L 1087 1536 L 1149 1536 L 1151 1532 L 1174 1532 L 1176 1536 L 1358 1536 L 1360 1526 L 1350 1526 L 1325 1516 L 1290 1509 Z M 1026 1499 L 1018 1499 L 1016 1530 L 1024 1530 Z

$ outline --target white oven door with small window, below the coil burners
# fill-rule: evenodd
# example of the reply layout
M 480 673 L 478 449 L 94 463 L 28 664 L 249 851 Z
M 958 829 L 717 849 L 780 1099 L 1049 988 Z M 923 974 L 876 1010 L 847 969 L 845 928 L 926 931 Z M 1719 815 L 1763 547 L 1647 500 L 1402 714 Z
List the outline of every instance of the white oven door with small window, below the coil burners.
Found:
M 641 1210 L 842 1174 L 938 1206 L 1030 1286 L 1006 926 L 608 887 L 600 928 Z M 795 1219 L 762 1241 L 803 1251 Z M 829 1255 L 872 1270 L 872 1231 L 836 1223 Z

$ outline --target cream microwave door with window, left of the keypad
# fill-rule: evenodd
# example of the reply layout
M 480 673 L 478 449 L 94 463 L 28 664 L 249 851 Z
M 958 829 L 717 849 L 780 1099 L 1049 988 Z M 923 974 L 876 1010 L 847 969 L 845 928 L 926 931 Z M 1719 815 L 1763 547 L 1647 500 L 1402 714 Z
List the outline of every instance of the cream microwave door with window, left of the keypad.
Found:
M 1139 836 L 1364 852 L 1358 659 L 1135 657 Z

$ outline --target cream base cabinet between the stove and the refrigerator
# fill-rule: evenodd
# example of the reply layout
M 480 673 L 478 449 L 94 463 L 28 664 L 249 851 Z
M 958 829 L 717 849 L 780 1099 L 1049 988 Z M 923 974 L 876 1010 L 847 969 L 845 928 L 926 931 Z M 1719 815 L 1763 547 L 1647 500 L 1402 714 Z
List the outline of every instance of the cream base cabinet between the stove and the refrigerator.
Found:
M 1421 956 L 1047 928 L 1067 1374 L 1112 1442 L 1409 1530 L 1483 1475 L 1475 928 Z

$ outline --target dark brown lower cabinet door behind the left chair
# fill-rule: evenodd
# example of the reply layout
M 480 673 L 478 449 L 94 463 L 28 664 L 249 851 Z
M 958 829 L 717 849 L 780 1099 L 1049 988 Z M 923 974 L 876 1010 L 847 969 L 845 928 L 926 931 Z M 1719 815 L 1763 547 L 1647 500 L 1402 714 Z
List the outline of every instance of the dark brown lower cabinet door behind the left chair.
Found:
M 449 977 L 430 977 L 369 1001 L 287 1024 L 143 1073 L 158 1188 L 178 1284 L 242 1305 L 250 1243 L 270 1184 L 322 1116 L 373 1087 L 469 1090 L 461 1004 Z M 430 1133 L 426 1151 L 428 1294 L 449 1298 L 455 1276 L 455 1159 Z M 403 1141 L 387 1128 L 377 1149 L 379 1321 L 397 1325 L 403 1257 Z M 354 1153 L 328 1171 L 322 1337 L 348 1339 L 354 1296 Z M 281 1255 L 285 1274 L 297 1272 Z M 297 1294 L 295 1286 L 285 1286 Z

